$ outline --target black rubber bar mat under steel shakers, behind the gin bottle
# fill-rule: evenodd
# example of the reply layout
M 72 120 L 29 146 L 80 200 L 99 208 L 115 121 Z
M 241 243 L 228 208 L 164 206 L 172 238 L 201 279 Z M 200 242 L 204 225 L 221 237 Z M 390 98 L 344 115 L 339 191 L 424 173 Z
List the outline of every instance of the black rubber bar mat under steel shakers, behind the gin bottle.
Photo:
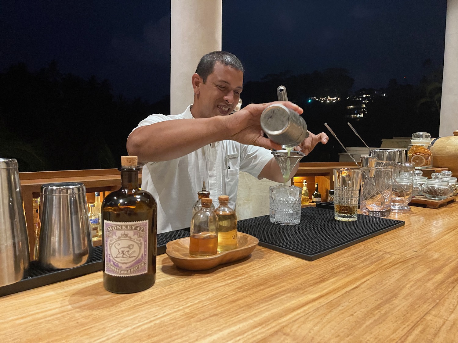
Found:
M 158 255 L 164 254 L 166 244 L 175 239 L 189 237 L 189 229 L 164 232 L 158 234 Z M 102 270 L 102 247 L 94 247 L 92 257 L 89 261 L 79 267 L 68 269 L 45 269 L 42 268 L 36 261 L 32 261 L 29 267 L 29 275 L 14 284 L 8 284 L 0 287 L 0 297 L 9 295 L 23 290 L 41 287 L 47 284 L 73 279 L 78 276 L 99 272 Z

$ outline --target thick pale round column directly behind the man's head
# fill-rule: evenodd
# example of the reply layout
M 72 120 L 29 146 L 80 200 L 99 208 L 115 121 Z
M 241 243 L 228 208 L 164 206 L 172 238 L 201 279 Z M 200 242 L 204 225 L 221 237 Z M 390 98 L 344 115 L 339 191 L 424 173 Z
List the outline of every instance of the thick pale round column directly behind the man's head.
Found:
M 222 0 L 171 0 L 170 114 L 192 104 L 191 76 L 201 57 L 221 50 Z

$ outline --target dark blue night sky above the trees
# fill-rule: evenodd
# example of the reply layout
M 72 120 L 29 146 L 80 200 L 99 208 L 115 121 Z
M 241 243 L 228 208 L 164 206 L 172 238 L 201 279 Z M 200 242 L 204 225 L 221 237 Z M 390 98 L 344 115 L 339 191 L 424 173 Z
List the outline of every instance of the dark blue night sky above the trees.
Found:
M 245 65 L 245 81 L 342 67 L 353 90 L 404 76 L 416 84 L 425 59 L 442 66 L 445 16 L 446 0 L 223 0 L 222 44 Z M 0 32 L 2 70 L 55 59 L 61 72 L 109 79 L 128 98 L 169 94 L 168 0 L 4 1 Z

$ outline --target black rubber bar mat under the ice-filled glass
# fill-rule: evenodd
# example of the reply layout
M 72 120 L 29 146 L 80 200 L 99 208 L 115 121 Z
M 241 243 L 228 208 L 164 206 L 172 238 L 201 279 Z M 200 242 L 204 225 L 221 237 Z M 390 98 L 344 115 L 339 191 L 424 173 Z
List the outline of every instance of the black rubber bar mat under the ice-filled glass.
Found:
M 269 216 L 237 222 L 237 230 L 259 239 L 259 245 L 313 261 L 405 224 L 402 220 L 358 214 L 356 221 L 334 219 L 334 210 L 305 207 L 297 225 L 277 225 Z

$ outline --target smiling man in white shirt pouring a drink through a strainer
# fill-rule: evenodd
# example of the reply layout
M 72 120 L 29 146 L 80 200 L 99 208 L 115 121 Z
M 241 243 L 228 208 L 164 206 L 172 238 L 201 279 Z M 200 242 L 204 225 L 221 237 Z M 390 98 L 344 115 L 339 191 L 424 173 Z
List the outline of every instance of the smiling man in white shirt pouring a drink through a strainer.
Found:
M 243 73 L 233 54 L 206 54 L 191 77 L 193 104 L 181 114 L 152 114 L 129 135 L 127 151 L 145 163 L 142 189 L 158 202 L 158 233 L 190 225 L 192 204 L 204 181 L 215 205 L 220 195 L 228 195 L 234 209 L 240 171 L 276 182 L 296 173 L 298 165 L 284 179 L 271 151 L 282 146 L 264 137 L 260 118 L 272 103 L 250 104 L 232 113 L 243 90 Z M 303 112 L 291 102 L 276 103 L 297 115 Z M 294 150 L 307 155 L 327 140 L 325 133 L 309 133 Z

